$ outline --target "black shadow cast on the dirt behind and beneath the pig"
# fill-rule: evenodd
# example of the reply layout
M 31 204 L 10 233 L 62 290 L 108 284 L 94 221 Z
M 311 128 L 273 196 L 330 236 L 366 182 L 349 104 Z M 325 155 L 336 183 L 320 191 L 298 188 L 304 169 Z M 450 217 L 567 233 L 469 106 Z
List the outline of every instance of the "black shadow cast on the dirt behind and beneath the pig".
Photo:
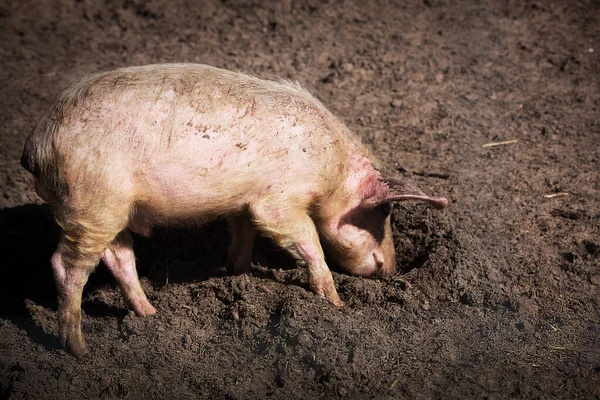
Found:
M 58 339 L 45 333 L 31 318 L 28 304 L 56 310 L 56 289 L 50 257 L 58 243 L 59 227 L 48 205 L 28 204 L 0 210 L 0 316 L 24 329 L 31 339 L 47 349 L 59 348 Z M 152 237 L 133 235 L 137 270 L 155 288 L 168 283 L 204 281 L 224 276 L 229 242 L 227 223 L 218 220 L 201 227 L 159 228 Z M 294 268 L 294 260 L 270 241 L 258 238 L 254 261 L 276 262 Z M 261 271 L 256 271 L 259 275 Z M 269 274 L 267 274 L 269 275 Z M 116 289 L 114 278 L 100 263 L 90 275 L 86 294 L 105 286 Z M 94 317 L 124 318 L 128 310 L 97 298 L 84 300 L 83 309 Z

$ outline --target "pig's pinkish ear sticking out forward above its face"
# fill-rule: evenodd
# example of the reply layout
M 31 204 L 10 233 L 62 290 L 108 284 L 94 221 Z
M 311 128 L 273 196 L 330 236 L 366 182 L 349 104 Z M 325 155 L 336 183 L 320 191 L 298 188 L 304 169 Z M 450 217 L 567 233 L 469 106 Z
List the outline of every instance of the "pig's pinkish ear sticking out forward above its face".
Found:
M 412 182 L 385 178 L 378 181 L 378 188 L 373 196 L 369 196 L 363 201 L 367 207 L 375 207 L 382 203 L 392 201 L 417 200 L 431 204 L 433 207 L 441 210 L 448 206 L 448 200 L 443 197 L 429 197 Z

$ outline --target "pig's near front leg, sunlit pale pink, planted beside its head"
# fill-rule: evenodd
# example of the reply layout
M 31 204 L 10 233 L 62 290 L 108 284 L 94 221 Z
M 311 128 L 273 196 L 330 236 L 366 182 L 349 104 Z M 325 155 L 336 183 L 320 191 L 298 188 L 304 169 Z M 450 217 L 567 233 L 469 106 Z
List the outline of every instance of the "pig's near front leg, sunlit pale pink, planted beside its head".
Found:
M 251 207 L 251 214 L 258 229 L 306 264 L 308 283 L 313 292 L 335 306 L 344 305 L 325 263 L 315 224 L 304 209 L 282 211 L 281 208 L 255 206 Z

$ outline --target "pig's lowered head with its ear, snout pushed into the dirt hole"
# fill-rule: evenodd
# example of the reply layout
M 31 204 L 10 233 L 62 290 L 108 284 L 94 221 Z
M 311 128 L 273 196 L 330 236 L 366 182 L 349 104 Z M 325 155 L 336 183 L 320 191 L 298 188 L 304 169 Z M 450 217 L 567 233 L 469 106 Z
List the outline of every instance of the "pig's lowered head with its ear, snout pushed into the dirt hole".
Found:
M 396 253 L 390 222 L 391 204 L 418 200 L 437 209 L 445 198 L 432 198 L 414 184 L 400 179 L 362 181 L 350 206 L 326 222 L 324 243 L 331 257 L 345 271 L 360 276 L 389 276 L 396 272 Z

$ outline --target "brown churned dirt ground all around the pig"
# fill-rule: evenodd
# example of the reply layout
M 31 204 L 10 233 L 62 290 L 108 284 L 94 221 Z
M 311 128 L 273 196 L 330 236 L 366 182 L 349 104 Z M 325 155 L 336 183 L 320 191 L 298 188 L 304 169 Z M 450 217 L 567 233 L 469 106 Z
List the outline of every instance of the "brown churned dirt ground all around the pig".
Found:
M 599 2 L 3 0 L 0 26 L 0 398 L 600 398 Z M 136 237 L 158 314 L 100 266 L 78 360 L 18 160 L 70 81 L 159 62 L 298 81 L 450 207 L 395 206 L 401 273 L 334 272 L 341 309 L 265 240 L 226 276 L 222 221 Z

